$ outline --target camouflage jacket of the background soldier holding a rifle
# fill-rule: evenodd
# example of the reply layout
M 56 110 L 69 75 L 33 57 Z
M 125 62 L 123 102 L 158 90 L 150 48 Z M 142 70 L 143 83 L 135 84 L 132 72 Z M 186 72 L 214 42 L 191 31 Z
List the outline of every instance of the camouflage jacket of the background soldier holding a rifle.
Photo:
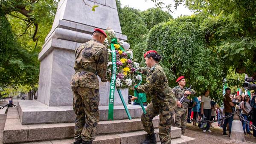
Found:
M 183 89 L 180 86 L 175 86 L 172 91 L 175 94 L 175 97 L 179 100 L 182 95 L 184 94 L 184 92 L 186 91 L 186 89 L 188 89 L 187 87 L 184 87 Z M 194 89 L 190 89 L 191 95 L 195 95 L 195 90 Z M 175 109 L 175 111 L 185 111 L 188 110 L 188 103 L 183 102 L 182 103 L 182 107 L 177 107 L 177 109 Z

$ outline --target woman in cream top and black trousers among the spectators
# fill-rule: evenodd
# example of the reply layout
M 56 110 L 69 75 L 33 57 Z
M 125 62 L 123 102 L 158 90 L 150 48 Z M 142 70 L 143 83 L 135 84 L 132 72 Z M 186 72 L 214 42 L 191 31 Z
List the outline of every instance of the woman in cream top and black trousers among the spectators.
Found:
M 212 112 L 212 107 L 211 107 L 211 98 L 209 96 L 210 91 L 207 89 L 204 93 L 203 96 L 201 97 L 201 114 L 202 117 L 203 115 L 206 117 L 206 120 L 210 120 L 211 118 L 211 112 Z M 203 130 L 203 132 L 212 132 L 210 130 L 210 124 L 207 123 L 207 127 Z

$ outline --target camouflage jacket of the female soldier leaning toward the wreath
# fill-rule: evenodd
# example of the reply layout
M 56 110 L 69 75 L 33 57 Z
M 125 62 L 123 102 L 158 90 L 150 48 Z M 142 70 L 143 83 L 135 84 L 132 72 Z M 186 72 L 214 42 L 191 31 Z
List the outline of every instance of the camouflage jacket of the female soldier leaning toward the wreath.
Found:
M 146 83 L 138 86 L 137 91 L 150 93 L 153 104 L 169 102 L 169 104 L 173 104 L 173 107 L 176 107 L 177 99 L 168 86 L 168 79 L 158 63 L 148 69 Z

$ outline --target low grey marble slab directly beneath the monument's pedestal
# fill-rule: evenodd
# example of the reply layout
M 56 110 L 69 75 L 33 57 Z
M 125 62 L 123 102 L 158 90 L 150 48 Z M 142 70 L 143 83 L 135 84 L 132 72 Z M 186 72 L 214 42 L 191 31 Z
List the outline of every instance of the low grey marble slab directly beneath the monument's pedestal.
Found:
M 127 105 L 131 118 L 140 118 L 143 113 L 140 106 Z M 49 107 L 39 101 L 18 101 L 21 124 L 52 124 L 74 122 L 72 106 Z M 124 106 L 114 106 L 114 120 L 127 119 Z M 100 121 L 108 120 L 108 106 L 99 106 Z

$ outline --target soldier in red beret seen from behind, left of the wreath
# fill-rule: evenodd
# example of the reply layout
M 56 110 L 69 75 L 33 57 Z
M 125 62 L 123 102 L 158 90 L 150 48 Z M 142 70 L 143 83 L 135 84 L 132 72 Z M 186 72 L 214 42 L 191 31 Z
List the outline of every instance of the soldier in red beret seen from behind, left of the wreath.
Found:
M 73 110 L 76 113 L 74 144 L 91 144 L 99 122 L 99 80 L 107 81 L 107 37 L 102 29 L 94 29 L 93 39 L 75 51 L 75 74 L 71 79 Z

